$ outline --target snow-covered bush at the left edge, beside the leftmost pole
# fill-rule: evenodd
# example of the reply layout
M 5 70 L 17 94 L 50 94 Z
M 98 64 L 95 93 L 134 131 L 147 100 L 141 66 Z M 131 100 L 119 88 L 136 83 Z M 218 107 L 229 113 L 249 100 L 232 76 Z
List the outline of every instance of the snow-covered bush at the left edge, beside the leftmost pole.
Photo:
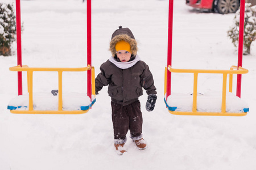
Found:
M 15 41 L 16 20 L 13 5 L 0 2 L 0 56 L 11 55 L 11 43 Z

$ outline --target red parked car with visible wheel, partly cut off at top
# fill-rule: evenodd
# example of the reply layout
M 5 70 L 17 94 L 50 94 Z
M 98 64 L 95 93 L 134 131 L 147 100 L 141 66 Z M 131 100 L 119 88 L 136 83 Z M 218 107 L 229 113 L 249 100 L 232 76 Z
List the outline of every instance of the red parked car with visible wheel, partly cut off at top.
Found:
M 240 0 L 186 0 L 188 6 L 216 11 L 220 14 L 234 13 L 240 7 Z

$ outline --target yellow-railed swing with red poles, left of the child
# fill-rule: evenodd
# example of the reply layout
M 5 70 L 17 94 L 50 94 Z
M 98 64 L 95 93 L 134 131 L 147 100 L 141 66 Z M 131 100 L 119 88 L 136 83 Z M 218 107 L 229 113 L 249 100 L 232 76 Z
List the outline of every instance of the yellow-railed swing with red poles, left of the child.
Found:
M 18 66 L 10 67 L 10 71 L 18 71 L 18 96 L 11 100 L 7 109 L 11 113 L 20 114 L 81 114 L 86 113 L 95 103 L 95 74 L 92 67 L 92 26 L 91 26 L 91 0 L 87 0 L 87 66 L 80 68 L 47 68 L 47 67 L 28 67 L 22 66 L 21 57 L 21 23 L 20 23 L 20 0 L 16 0 L 16 33 L 17 33 L 17 60 Z M 28 94 L 22 94 L 22 71 L 27 72 L 27 90 Z M 52 94 L 33 93 L 33 73 L 35 71 L 54 71 L 58 73 L 59 89 L 53 90 Z M 86 94 L 68 94 L 63 95 L 63 72 L 64 71 L 87 71 L 87 95 Z M 47 97 L 47 105 L 53 105 L 47 108 L 40 108 L 40 101 Z M 68 100 L 75 100 L 75 107 L 69 108 Z M 38 102 L 38 103 L 37 103 Z M 42 105 L 44 106 L 44 105 Z

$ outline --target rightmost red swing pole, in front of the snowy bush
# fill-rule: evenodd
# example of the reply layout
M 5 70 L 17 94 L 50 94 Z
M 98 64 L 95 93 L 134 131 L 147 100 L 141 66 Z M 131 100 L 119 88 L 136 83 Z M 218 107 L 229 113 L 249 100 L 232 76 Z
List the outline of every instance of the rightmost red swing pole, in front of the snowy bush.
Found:
M 238 63 L 237 67 L 242 67 L 243 60 L 243 28 L 245 24 L 245 0 L 240 2 L 240 25 L 239 25 L 239 40 L 238 40 Z M 241 97 L 242 74 L 237 75 L 237 96 Z

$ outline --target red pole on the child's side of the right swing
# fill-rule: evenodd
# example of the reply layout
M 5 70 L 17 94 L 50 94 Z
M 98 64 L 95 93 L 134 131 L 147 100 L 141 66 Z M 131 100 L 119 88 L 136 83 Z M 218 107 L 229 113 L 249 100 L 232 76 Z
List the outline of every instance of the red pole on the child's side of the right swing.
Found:
M 174 0 L 169 1 L 169 22 L 168 22 L 168 52 L 167 67 L 172 66 L 172 22 L 174 16 Z M 171 72 L 167 69 L 166 100 L 171 95 Z

